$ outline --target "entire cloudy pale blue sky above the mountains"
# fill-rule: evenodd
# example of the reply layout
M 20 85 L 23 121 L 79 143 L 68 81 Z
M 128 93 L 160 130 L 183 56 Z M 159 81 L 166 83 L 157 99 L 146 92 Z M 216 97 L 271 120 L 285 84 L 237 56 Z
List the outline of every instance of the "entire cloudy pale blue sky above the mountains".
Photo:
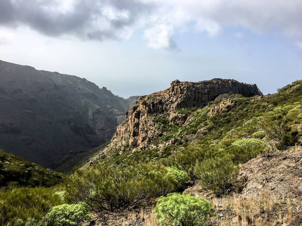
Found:
M 0 0 L 0 60 L 84 77 L 124 98 L 176 79 L 276 93 L 302 79 L 302 1 Z

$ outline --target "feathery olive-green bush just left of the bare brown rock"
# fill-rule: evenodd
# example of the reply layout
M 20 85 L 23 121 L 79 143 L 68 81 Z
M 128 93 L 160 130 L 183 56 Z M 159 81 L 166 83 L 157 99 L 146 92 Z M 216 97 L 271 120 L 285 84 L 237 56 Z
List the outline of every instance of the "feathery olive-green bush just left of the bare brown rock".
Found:
M 194 168 L 194 174 L 206 189 L 218 196 L 235 189 L 238 167 L 230 158 L 206 159 Z

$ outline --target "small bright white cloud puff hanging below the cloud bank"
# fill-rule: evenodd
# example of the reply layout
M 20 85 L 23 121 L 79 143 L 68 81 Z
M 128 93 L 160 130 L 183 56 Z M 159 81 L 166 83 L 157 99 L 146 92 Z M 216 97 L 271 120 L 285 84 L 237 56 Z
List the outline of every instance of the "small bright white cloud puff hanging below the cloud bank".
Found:
M 149 40 L 148 46 L 153 49 L 175 49 L 175 42 L 172 39 L 173 26 L 167 24 L 157 24 L 148 28 L 144 32 Z

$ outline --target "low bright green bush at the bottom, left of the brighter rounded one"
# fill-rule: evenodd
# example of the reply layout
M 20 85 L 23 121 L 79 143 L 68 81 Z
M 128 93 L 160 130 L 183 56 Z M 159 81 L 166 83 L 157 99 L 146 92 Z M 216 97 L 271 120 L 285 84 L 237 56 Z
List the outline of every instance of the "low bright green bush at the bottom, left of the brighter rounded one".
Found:
M 49 226 L 78 226 L 89 221 L 91 214 L 83 203 L 54 206 L 45 217 Z

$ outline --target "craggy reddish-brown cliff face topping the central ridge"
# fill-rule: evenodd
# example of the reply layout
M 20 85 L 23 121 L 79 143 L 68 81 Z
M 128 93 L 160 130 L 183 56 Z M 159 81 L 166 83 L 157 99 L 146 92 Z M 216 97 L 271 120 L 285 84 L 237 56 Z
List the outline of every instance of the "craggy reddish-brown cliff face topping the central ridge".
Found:
M 175 80 L 168 89 L 141 96 L 136 105 L 127 110 L 125 121 L 117 127 L 104 152 L 109 153 L 112 149 L 123 152 L 126 149 L 149 148 L 162 135 L 156 129 L 156 122 L 150 120 L 150 115 L 165 114 L 171 123 L 184 123 L 186 119 L 177 118 L 173 111 L 204 106 L 223 93 L 241 94 L 245 97 L 262 95 L 255 84 L 239 83 L 236 80 L 216 78 L 196 83 Z M 228 108 L 233 103 L 230 101 L 226 104 Z

